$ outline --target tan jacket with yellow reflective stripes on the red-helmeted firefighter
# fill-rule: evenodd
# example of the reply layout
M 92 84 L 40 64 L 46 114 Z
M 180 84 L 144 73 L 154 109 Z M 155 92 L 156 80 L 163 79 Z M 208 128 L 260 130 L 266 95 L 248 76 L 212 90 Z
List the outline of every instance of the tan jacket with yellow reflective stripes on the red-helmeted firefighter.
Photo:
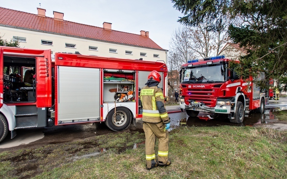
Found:
M 142 121 L 147 123 L 169 123 L 165 110 L 162 89 L 158 86 L 145 86 L 141 89 Z

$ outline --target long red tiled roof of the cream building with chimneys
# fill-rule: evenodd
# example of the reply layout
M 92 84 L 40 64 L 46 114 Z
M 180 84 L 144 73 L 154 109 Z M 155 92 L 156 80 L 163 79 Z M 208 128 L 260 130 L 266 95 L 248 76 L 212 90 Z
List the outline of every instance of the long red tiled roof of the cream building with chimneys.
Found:
M 106 30 L 101 27 L 65 20 L 59 21 L 51 17 L 41 17 L 36 14 L 2 7 L 0 7 L 0 24 L 13 26 L 15 28 L 32 29 L 41 32 L 58 33 L 81 38 L 163 50 L 147 36 L 120 32 L 116 30 Z

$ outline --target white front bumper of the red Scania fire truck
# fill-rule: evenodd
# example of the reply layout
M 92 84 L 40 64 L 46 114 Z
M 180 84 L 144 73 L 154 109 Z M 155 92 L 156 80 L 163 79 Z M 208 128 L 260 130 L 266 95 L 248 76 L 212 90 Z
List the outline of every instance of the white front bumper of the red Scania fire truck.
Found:
M 229 114 L 231 111 L 231 106 L 216 105 L 215 107 L 209 107 L 209 106 L 205 106 L 204 104 L 200 102 L 195 102 L 195 101 L 189 103 L 189 105 L 186 105 L 185 103 L 181 103 L 180 108 L 185 109 L 185 110 L 194 110 L 194 111 L 200 111 L 200 112 L 221 113 L 221 114 Z

